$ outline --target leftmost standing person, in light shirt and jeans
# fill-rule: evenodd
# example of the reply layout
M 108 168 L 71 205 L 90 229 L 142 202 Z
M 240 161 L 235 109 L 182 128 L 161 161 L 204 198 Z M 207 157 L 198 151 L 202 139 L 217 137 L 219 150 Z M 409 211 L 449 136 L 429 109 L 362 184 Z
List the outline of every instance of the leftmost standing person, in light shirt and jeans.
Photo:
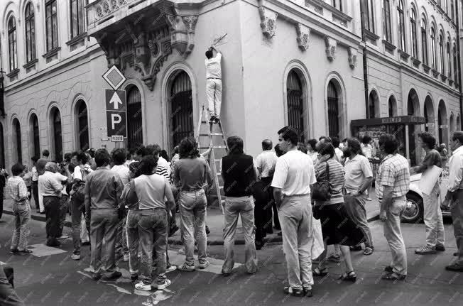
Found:
M 13 199 L 14 230 L 10 246 L 10 253 L 13 254 L 32 253 L 26 248 L 30 232 L 28 223 L 31 219 L 31 207 L 28 202 L 26 184 L 21 177 L 23 170 L 23 165 L 19 163 L 13 165 L 11 167 L 13 176 L 9 178 L 6 185 L 7 194 Z

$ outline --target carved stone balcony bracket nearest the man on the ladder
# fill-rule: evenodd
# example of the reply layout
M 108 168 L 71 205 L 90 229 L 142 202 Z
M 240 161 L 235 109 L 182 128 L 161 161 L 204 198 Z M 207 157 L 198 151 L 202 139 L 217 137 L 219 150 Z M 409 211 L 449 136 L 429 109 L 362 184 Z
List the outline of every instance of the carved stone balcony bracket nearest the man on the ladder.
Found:
M 197 16 L 166 16 L 170 26 L 170 43 L 182 55 L 188 55 L 195 47 Z

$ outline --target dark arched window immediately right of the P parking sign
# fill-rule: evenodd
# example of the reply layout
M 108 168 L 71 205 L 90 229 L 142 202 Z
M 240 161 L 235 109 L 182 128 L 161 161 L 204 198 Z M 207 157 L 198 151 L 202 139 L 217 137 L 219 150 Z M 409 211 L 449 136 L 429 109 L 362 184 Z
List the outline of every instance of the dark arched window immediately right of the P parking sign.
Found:
M 141 116 L 141 94 L 133 86 L 127 92 L 127 140 L 129 148 L 143 144 L 143 122 Z

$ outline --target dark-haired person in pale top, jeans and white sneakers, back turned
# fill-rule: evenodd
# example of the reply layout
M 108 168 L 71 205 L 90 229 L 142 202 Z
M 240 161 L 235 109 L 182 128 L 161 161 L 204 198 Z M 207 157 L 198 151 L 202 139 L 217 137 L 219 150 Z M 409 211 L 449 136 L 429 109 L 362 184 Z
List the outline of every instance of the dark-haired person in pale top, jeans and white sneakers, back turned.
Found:
M 153 278 L 153 246 L 156 253 L 156 288 L 163 290 L 170 285 L 165 276 L 168 211 L 175 205 L 169 181 L 162 175 L 154 173 L 158 158 L 146 155 L 141 160 L 137 173 L 140 175 L 130 182 L 130 192 L 135 192 L 138 198 L 140 221 L 138 233 L 141 244 L 141 276 L 140 283 L 135 285 L 138 290 L 150 291 Z M 164 199 L 167 198 L 167 205 Z M 130 225 L 130 224 L 129 224 Z

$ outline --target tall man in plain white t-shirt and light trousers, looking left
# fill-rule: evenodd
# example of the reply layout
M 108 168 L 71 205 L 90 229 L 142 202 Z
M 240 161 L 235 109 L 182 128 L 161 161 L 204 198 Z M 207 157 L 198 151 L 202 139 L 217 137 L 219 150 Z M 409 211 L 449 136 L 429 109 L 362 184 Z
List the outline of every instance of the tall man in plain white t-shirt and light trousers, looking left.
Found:
M 278 131 L 278 145 L 285 152 L 276 162 L 273 197 L 278 207 L 283 251 L 288 266 L 286 294 L 312 296 L 312 205 L 310 186 L 316 182 L 309 155 L 298 151 L 298 132 L 285 126 Z

